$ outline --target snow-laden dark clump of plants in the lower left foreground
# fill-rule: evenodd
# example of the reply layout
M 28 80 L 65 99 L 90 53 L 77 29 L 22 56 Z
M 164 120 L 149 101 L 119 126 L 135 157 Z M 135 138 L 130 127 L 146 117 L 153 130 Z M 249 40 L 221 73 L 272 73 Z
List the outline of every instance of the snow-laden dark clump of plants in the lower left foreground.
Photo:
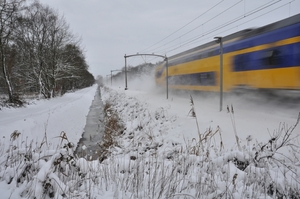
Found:
M 24 198 L 65 198 L 77 194 L 88 170 L 85 160 L 74 157 L 74 144 L 64 132 L 61 145 L 50 149 L 46 135 L 42 143 L 21 141 L 20 132 L 11 134 L 1 155 L 0 179 L 19 188 Z M 75 182 L 72 184 L 72 182 Z

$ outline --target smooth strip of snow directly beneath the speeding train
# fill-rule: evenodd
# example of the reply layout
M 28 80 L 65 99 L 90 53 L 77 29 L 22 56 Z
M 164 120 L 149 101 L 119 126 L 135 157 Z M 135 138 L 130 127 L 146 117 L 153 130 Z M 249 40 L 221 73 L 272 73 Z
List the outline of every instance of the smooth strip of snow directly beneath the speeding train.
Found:
M 181 93 L 176 94 L 169 91 L 168 100 L 166 91 L 157 91 L 151 77 L 143 77 L 128 83 L 129 90 L 124 91 L 124 82 L 117 82 L 111 86 L 118 93 L 124 93 L 141 101 L 147 109 L 156 111 L 164 109 L 170 117 L 176 117 L 176 122 L 172 124 L 173 130 L 169 131 L 168 136 L 191 139 L 197 137 L 197 125 L 195 120 L 189 117 L 191 109 L 190 96 L 194 101 L 195 112 L 199 123 L 200 132 L 204 133 L 207 129 L 216 129 L 218 126 L 222 132 L 223 142 L 226 148 L 234 147 L 234 128 L 241 141 L 251 135 L 259 142 L 267 141 L 270 135 L 277 131 L 280 126 L 294 125 L 300 113 L 300 101 L 287 102 L 280 99 L 266 97 L 266 95 L 242 94 L 225 95 L 223 110 L 220 112 L 219 94 L 199 94 Z M 146 88 L 146 91 L 145 91 Z M 259 96 L 258 96 L 259 95 Z M 299 98 L 298 98 L 299 99 Z M 227 106 L 234 109 L 234 123 L 227 111 Z M 295 129 L 295 134 L 300 135 L 300 125 Z

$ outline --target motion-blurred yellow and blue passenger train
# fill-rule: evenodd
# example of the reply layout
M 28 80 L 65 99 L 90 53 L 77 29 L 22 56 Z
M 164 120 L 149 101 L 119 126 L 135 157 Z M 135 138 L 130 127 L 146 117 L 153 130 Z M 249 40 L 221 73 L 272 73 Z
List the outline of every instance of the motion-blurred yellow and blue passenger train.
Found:
M 300 14 L 222 38 L 223 91 L 300 90 Z M 171 89 L 219 91 L 220 43 L 211 41 L 168 58 Z M 166 85 L 166 62 L 155 71 Z

